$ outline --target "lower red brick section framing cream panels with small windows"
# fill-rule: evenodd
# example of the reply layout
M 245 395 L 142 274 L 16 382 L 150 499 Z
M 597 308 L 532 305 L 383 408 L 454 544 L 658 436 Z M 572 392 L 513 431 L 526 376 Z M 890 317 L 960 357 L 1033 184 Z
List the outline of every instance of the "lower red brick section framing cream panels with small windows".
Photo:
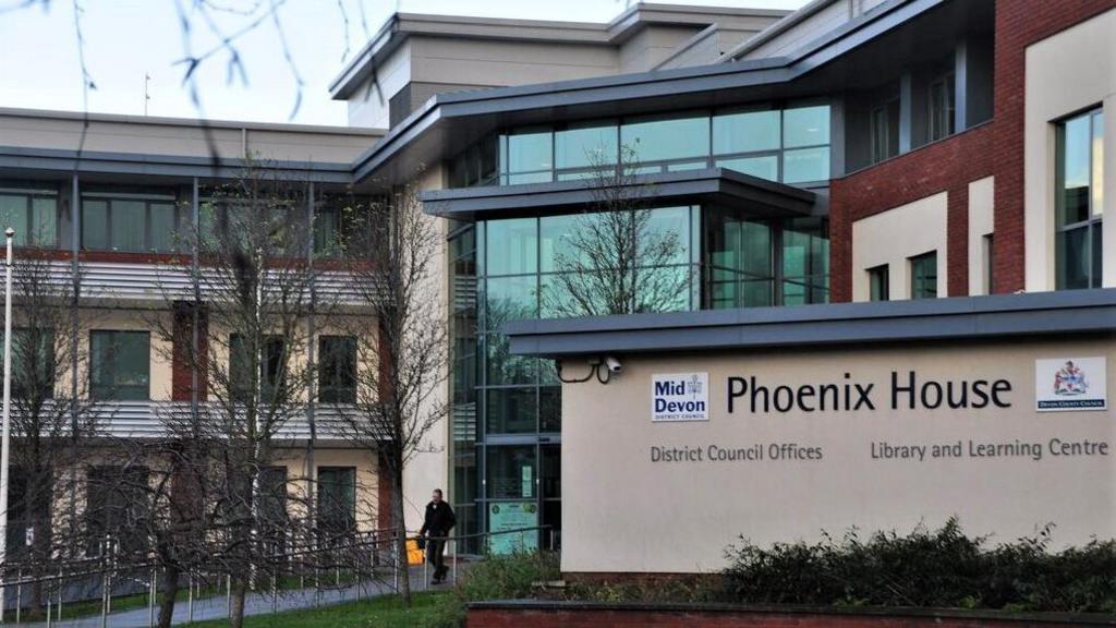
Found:
M 831 301 L 853 299 L 853 222 L 942 191 L 949 192 L 949 294 L 969 294 L 969 183 L 992 174 L 992 127 L 971 129 L 831 182 Z

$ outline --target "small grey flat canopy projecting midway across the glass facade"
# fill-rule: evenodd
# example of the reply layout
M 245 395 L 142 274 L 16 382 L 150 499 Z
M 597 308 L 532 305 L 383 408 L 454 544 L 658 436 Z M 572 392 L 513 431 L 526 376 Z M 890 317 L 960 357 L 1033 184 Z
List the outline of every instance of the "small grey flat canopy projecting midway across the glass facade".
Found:
M 516 215 L 562 213 L 593 207 L 609 199 L 624 199 L 635 206 L 722 203 L 745 208 L 757 218 L 810 216 L 816 194 L 792 185 L 777 183 L 723 168 L 686 170 L 662 174 L 622 178 L 616 191 L 602 181 L 559 181 L 525 185 L 491 185 L 423 192 L 426 213 L 458 220 L 482 220 Z M 604 183 L 608 183 L 604 181 Z

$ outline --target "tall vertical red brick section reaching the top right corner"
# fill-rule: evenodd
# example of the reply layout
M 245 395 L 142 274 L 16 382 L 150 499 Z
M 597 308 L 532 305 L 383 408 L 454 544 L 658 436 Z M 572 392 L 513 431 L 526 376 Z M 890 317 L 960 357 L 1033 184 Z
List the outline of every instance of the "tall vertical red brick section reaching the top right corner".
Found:
M 1023 101 L 1027 47 L 1097 13 L 1116 0 L 998 0 L 995 3 L 995 248 L 993 291 L 1022 289 Z M 1066 112 L 1070 113 L 1070 112 Z

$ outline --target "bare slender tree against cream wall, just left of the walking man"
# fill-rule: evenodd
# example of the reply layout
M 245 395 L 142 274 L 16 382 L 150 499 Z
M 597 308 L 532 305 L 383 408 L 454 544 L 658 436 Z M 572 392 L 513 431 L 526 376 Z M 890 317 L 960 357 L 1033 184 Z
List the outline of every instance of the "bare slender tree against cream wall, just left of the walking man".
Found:
M 379 482 L 391 493 L 396 555 L 405 565 L 406 525 L 403 475 L 415 456 L 434 453 L 427 436 L 449 407 L 442 398 L 449 375 L 448 323 L 440 294 L 437 263 L 443 238 L 423 215 L 417 191 L 401 190 L 368 207 L 355 208 L 359 228 L 346 241 L 346 259 L 356 301 L 352 321 L 358 333 L 356 398 L 341 412 L 345 437 L 379 457 Z M 383 527 L 383 526 L 382 526 Z M 410 579 L 400 579 L 404 605 Z

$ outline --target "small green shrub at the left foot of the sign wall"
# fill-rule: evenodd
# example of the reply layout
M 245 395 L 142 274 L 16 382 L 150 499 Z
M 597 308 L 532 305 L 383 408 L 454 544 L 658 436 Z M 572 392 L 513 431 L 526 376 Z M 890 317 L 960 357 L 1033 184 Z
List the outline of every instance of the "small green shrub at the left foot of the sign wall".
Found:
M 471 601 L 530 598 L 537 583 L 560 578 L 558 555 L 552 552 L 485 556 L 465 571 L 451 594 L 439 599 L 423 626 L 459 628 L 465 625 L 465 605 Z

